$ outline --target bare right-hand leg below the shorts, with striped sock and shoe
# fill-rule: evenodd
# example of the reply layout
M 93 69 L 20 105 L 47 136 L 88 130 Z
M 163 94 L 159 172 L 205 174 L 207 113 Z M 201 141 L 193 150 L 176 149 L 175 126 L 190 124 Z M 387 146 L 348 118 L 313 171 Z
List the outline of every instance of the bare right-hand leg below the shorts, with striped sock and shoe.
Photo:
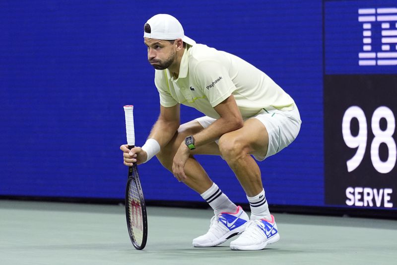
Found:
M 261 171 L 251 154 L 265 157 L 269 136 L 258 119 L 248 119 L 244 126 L 219 139 L 219 149 L 244 188 L 251 207 L 251 221 L 239 238 L 230 242 L 232 250 L 261 250 L 275 243 L 280 235 L 270 215 Z

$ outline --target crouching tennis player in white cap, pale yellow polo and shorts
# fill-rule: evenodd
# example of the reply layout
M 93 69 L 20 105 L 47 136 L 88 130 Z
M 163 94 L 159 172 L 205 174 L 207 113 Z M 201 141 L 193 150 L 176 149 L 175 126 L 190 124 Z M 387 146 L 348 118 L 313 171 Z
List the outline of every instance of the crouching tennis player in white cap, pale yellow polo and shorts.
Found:
M 124 164 L 142 164 L 156 155 L 208 202 L 215 216 L 208 232 L 193 240 L 194 247 L 217 246 L 238 234 L 232 250 L 261 250 L 277 242 L 280 236 L 255 160 L 280 152 L 297 137 L 301 119 L 294 100 L 241 58 L 196 44 L 171 15 L 151 17 L 143 36 L 155 68 L 160 115 L 142 147 L 120 147 Z M 204 116 L 181 125 L 180 104 Z M 199 154 L 222 156 L 246 192 L 250 217 L 208 177 L 194 158 Z

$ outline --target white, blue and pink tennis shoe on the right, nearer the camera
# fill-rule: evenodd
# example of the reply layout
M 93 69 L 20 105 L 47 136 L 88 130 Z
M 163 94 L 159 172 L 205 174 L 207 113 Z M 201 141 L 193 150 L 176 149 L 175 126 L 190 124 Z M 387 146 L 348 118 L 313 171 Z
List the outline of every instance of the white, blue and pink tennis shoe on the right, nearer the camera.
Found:
M 266 219 L 253 220 L 241 236 L 230 242 L 232 250 L 262 250 L 267 244 L 276 243 L 280 239 L 274 216 L 271 221 Z

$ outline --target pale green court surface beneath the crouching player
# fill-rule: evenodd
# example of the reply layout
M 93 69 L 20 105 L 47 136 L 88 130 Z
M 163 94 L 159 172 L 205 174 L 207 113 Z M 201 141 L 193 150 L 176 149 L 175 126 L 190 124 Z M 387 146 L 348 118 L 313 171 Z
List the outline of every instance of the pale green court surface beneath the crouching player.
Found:
M 1 265 L 396 264 L 397 221 L 275 213 L 280 241 L 262 251 L 193 248 L 211 210 L 148 207 L 133 249 L 122 205 L 0 200 Z

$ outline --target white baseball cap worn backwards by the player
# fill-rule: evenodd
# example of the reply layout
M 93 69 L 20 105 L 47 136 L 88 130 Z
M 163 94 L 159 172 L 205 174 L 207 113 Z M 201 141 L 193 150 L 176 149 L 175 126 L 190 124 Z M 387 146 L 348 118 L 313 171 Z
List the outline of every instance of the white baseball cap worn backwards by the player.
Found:
M 143 37 L 157 40 L 182 39 L 187 44 L 196 44 L 196 41 L 185 36 L 183 27 L 178 19 L 169 14 L 157 14 L 149 18 L 144 26 Z

